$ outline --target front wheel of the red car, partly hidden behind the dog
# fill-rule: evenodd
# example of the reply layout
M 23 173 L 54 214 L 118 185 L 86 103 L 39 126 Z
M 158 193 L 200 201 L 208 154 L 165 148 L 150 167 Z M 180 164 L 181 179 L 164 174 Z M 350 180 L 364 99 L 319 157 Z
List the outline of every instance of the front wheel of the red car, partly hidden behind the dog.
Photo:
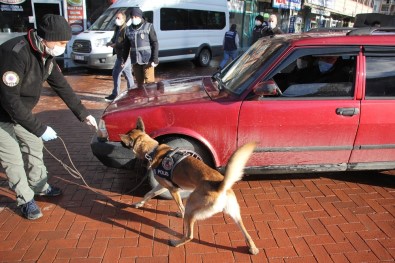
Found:
M 208 153 L 202 146 L 200 146 L 197 142 L 185 138 L 180 137 L 169 137 L 162 140 L 160 143 L 165 143 L 172 148 L 180 148 L 180 150 L 185 150 L 192 156 L 197 159 L 202 160 L 205 164 L 210 167 L 214 167 L 213 160 L 211 158 L 211 154 Z M 151 170 L 147 171 L 149 184 L 152 188 L 158 185 L 158 182 L 155 180 L 154 174 Z M 192 191 L 189 190 L 180 190 L 181 198 L 188 198 Z M 164 199 L 172 199 L 169 191 L 164 192 L 160 195 L 160 197 Z

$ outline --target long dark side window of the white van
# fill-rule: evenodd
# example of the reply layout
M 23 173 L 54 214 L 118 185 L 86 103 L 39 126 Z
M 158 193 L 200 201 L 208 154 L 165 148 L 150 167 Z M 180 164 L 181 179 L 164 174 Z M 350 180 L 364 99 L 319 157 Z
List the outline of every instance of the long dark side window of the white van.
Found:
M 218 30 L 226 25 L 225 12 L 161 8 L 160 29 L 167 30 Z

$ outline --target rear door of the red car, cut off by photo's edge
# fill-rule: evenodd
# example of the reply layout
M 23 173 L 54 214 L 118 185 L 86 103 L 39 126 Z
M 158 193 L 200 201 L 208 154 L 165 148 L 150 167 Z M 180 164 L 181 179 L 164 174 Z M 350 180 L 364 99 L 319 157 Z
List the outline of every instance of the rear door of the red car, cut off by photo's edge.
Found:
M 351 169 L 395 167 L 395 47 L 366 46 L 365 97 Z

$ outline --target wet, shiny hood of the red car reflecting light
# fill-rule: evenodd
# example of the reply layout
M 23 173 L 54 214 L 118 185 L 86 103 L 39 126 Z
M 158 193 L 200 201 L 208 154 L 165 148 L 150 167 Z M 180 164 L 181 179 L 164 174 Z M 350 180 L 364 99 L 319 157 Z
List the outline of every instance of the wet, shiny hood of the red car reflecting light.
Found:
M 120 94 L 106 113 L 152 106 L 170 105 L 218 97 L 219 89 L 210 76 L 162 80 Z

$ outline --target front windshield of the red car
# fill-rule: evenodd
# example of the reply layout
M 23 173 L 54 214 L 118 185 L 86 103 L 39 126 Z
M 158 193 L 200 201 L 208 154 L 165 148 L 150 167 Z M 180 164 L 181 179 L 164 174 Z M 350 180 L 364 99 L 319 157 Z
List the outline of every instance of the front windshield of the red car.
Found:
M 257 41 L 237 60 L 221 72 L 221 86 L 240 95 L 261 73 L 266 62 L 275 57 L 286 42 Z

